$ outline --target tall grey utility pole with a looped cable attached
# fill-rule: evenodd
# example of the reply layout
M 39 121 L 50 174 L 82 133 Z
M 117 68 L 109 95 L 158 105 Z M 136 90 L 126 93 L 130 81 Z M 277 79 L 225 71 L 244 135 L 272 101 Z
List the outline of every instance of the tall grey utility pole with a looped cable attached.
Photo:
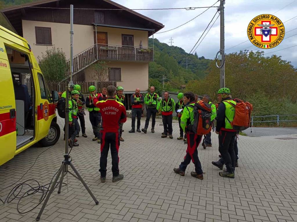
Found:
M 225 0 L 220 0 L 220 52 L 223 54 L 224 65 L 220 68 L 220 88 L 225 87 L 225 25 L 224 25 L 224 4 Z

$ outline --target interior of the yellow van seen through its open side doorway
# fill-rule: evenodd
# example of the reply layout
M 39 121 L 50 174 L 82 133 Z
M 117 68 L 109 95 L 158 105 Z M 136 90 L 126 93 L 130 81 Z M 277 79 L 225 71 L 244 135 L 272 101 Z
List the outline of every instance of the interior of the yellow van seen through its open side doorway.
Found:
M 34 84 L 29 58 L 26 54 L 5 47 L 15 92 L 17 148 L 34 139 Z

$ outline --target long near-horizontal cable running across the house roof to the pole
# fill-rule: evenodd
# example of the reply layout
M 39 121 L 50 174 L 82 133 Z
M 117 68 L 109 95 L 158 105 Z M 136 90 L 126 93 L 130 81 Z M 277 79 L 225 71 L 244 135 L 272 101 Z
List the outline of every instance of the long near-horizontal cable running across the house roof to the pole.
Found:
M 0 6 L 7 6 L 7 5 L 0 5 Z M 18 8 L 39 8 L 39 9 L 67 9 L 70 8 L 55 8 L 55 7 L 40 7 L 40 6 L 22 6 L 22 5 L 12 5 L 9 7 L 18 7 Z M 208 7 L 188 7 L 188 8 L 157 8 L 157 9 L 89 9 L 89 8 L 73 8 L 79 10 L 125 10 L 125 11 L 132 11 L 132 10 L 173 10 L 173 9 L 186 9 L 186 10 L 195 10 L 195 9 L 203 9 L 203 8 L 217 8 L 217 6 L 208 6 Z

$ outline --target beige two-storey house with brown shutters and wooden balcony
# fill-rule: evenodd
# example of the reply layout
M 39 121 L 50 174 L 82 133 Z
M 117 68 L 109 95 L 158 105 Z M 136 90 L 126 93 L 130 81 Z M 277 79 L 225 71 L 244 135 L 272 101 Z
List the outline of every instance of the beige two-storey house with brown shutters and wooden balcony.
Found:
M 161 23 L 109 0 L 35 1 L 4 9 L 2 14 L 27 39 L 36 57 L 55 46 L 69 59 L 70 4 L 74 5 L 74 80 L 93 82 L 91 64 L 106 61 L 106 81 L 123 86 L 126 94 L 135 88 L 146 91 L 154 55 L 148 38 L 164 27 Z

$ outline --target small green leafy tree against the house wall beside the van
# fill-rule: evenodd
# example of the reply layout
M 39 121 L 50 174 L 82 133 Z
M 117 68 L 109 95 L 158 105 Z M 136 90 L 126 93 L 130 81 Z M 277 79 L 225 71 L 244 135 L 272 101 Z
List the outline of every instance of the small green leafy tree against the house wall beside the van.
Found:
M 62 49 L 46 48 L 38 58 L 39 67 L 47 81 L 61 81 L 68 68 L 65 53 Z

